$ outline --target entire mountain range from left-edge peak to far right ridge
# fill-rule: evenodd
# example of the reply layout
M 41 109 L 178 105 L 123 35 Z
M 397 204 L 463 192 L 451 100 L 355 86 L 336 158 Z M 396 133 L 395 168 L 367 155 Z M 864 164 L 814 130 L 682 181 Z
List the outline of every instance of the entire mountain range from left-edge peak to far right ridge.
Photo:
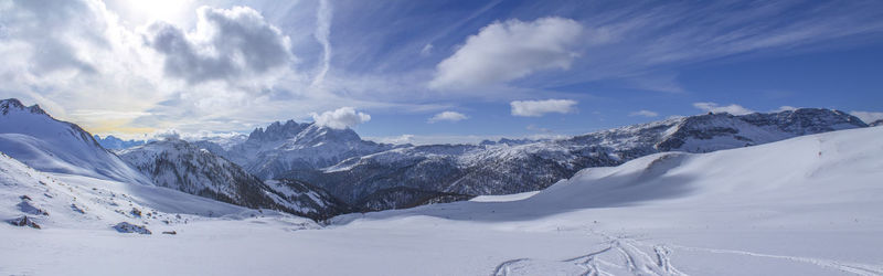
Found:
M 38 170 L 158 185 L 248 208 L 317 220 L 475 195 L 542 190 L 592 167 L 667 151 L 709 152 L 869 125 L 819 108 L 706 114 L 563 139 L 479 145 L 389 145 L 352 129 L 292 120 L 247 137 L 164 139 L 109 152 L 74 124 L 39 106 L 0 102 L 0 151 Z

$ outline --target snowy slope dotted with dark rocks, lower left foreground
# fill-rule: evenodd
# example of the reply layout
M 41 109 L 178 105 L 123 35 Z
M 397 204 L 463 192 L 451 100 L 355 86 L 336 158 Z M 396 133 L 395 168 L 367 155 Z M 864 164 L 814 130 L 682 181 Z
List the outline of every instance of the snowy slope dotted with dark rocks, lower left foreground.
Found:
M 113 231 L 110 225 L 128 222 L 158 231 L 205 216 L 256 214 L 166 188 L 41 172 L 0 153 L 0 220 L 4 224 L 28 216 L 42 230 Z

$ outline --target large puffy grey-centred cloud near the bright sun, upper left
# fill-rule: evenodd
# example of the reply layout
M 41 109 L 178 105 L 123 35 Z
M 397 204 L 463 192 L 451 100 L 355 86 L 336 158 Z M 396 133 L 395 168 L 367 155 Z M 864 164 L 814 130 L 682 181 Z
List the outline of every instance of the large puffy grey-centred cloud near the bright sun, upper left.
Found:
M 196 30 L 156 22 L 147 43 L 166 56 L 164 72 L 189 83 L 232 81 L 286 67 L 295 60 L 290 39 L 248 7 L 196 10 Z

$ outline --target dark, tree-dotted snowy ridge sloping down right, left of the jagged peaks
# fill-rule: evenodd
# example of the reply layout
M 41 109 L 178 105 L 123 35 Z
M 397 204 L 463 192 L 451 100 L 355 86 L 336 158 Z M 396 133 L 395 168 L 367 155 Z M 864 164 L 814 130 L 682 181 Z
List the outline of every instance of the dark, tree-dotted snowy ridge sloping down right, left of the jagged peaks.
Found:
M 345 211 L 321 189 L 294 181 L 264 183 L 240 166 L 181 139 L 151 141 L 119 155 L 157 185 L 190 194 L 312 219 Z

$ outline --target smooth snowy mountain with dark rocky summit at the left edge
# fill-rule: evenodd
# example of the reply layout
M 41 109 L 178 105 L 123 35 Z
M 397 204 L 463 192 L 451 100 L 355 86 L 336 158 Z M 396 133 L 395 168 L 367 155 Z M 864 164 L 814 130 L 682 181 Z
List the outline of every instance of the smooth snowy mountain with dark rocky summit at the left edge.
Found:
M 14 98 L 0 100 L 0 151 L 41 171 L 150 183 L 77 125 Z

